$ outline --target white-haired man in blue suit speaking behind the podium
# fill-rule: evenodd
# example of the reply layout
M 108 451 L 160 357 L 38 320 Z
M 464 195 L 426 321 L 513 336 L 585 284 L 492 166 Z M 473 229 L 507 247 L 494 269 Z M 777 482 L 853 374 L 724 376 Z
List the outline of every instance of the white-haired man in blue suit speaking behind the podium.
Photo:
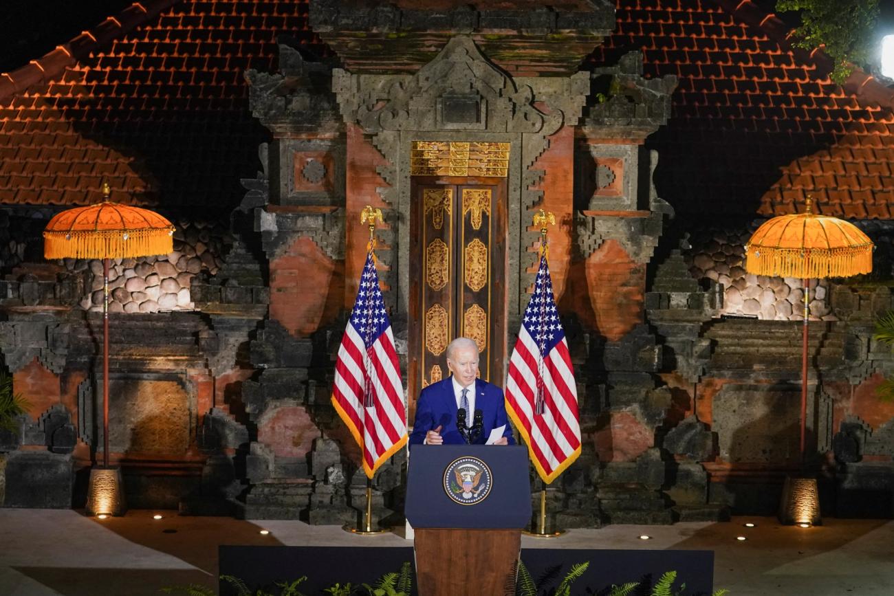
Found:
M 466 424 L 474 422 L 474 413 L 481 410 L 484 424 L 476 444 L 484 445 L 493 429 L 503 427 L 502 436 L 493 445 L 512 445 L 512 429 L 506 416 L 502 390 L 482 381 L 478 375 L 478 346 L 468 338 L 452 340 L 447 347 L 447 367 L 451 376 L 435 382 L 419 393 L 416 421 L 409 435 L 410 445 L 442 445 L 465 443 L 457 427 L 457 412 L 467 412 Z

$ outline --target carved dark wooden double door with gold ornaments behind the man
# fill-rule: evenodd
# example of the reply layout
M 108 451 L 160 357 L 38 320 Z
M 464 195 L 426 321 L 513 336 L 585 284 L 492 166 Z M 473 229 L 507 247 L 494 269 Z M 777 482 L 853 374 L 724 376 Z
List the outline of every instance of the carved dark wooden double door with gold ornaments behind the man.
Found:
M 493 179 L 492 179 L 493 180 Z M 502 382 L 505 350 L 505 179 L 414 180 L 409 389 L 450 374 L 447 345 L 478 345 L 480 375 Z

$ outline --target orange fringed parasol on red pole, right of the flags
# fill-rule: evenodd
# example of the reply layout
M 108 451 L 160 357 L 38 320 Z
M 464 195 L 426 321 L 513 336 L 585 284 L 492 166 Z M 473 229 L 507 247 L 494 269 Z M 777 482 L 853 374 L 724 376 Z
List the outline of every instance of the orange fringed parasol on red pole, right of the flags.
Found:
M 805 456 L 807 416 L 807 321 L 809 280 L 849 277 L 873 270 L 873 241 L 853 223 L 811 211 L 780 215 L 764 222 L 746 243 L 745 269 L 757 275 L 804 280 L 804 348 L 801 357 L 801 460 Z

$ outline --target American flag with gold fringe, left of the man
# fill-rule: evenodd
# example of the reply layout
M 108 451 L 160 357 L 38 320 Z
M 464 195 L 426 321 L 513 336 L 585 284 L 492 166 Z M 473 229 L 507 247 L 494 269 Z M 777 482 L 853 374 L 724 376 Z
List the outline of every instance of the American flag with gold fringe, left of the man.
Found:
M 401 367 L 372 250 L 335 361 L 332 401 L 363 449 L 363 469 L 372 478 L 407 442 Z

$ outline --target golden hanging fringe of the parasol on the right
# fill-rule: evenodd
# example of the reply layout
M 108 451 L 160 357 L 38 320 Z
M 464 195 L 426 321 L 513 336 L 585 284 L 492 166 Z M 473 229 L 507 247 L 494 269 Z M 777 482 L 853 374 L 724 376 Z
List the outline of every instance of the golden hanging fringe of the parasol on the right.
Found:
M 748 273 L 798 279 L 849 277 L 873 270 L 873 245 L 822 250 L 748 247 Z

